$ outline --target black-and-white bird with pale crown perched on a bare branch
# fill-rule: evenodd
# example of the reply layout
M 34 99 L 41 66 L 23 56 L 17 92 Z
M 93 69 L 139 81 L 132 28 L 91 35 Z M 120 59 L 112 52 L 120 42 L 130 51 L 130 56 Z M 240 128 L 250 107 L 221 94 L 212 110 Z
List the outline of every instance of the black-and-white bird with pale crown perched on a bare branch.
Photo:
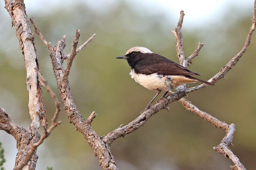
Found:
M 161 97 L 164 98 L 170 90 L 177 89 L 180 85 L 198 81 L 214 85 L 211 82 L 192 77 L 191 75 L 200 76 L 201 74 L 190 71 L 162 55 L 153 53 L 146 47 L 132 47 L 125 55 L 116 58 L 127 60 L 131 67 L 130 75 L 135 82 L 157 92 L 146 108 L 150 107 L 161 91 L 165 91 Z

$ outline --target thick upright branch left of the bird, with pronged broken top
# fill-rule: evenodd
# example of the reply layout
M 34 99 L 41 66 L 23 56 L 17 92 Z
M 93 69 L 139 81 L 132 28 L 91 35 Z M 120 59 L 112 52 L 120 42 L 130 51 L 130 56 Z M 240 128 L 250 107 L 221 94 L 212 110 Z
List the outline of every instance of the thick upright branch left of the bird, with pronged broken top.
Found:
M 35 25 L 35 23 L 34 23 Z M 65 47 L 65 36 L 58 42 L 58 46 L 55 50 L 48 43 L 48 49 L 52 59 L 52 67 L 55 78 L 57 80 L 58 88 L 60 89 L 60 95 L 66 114 L 68 115 L 69 122 L 73 123 L 76 130 L 80 131 L 87 143 L 92 147 L 95 156 L 98 158 L 102 169 L 117 170 L 114 157 L 111 155 L 109 146 L 105 144 L 99 137 L 99 135 L 92 129 L 91 122 L 96 113 L 92 113 L 91 116 L 84 122 L 84 118 L 79 113 L 73 100 L 72 92 L 68 83 L 68 73 L 71 68 L 72 61 L 76 55 L 75 46 L 77 45 L 79 37 L 79 31 L 76 32 L 75 40 L 73 42 L 73 48 L 70 57 L 68 57 L 68 63 L 66 69 L 62 67 L 61 59 L 63 58 L 63 49 Z M 89 43 L 90 41 L 88 41 Z M 74 54 L 74 55 L 73 55 Z M 66 72 L 66 73 L 65 73 Z M 66 76 L 64 76 L 64 74 Z M 66 79 L 64 79 L 66 77 Z

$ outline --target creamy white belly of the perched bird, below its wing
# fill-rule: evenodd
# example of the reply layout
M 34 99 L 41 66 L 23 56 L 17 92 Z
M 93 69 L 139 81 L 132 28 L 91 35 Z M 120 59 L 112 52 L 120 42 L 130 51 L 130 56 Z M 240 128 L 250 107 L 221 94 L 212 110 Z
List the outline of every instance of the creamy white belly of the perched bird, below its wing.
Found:
M 180 85 L 192 83 L 191 79 L 185 78 L 185 76 L 182 75 L 161 75 L 157 73 L 137 74 L 134 70 L 131 70 L 130 75 L 137 83 L 153 91 L 157 91 L 157 89 L 169 91 L 171 89 L 176 89 Z M 196 82 L 195 80 L 192 81 Z

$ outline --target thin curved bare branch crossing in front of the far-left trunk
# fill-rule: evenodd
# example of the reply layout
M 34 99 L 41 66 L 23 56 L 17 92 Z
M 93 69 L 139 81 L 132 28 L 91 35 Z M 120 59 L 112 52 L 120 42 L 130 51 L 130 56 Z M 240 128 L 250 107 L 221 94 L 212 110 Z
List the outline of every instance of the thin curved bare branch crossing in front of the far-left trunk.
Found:
M 32 144 L 31 147 L 29 148 L 28 152 L 26 153 L 25 157 L 23 157 L 20 161 L 20 163 L 13 168 L 13 170 L 20 170 L 22 169 L 25 165 L 28 164 L 28 161 L 31 160 L 34 152 L 36 151 L 37 147 L 43 143 L 44 139 L 47 138 L 50 134 L 52 129 L 54 129 L 56 126 L 59 126 L 61 121 L 57 122 L 57 118 L 60 112 L 60 102 L 58 101 L 58 99 L 56 98 L 56 95 L 52 92 L 52 89 L 50 88 L 50 86 L 48 85 L 47 81 L 44 79 L 44 77 L 41 75 L 41 72 L 35 67 L 35 70 L 37 72 L 38 75 L 38 79 L 41 82 L 41 84 L 43 86 L 46 87 L 46 91 L 50 93 L 52 99 L 54 100 L 55 106 L 56 106 L 56 112 L 54 113 L 54 116 L 52 118 L 52 124 L 49 127 L 49 129 L 46 129 L 46 126 L 43 126 L 43 135 L 40 137 L 39 141 Z

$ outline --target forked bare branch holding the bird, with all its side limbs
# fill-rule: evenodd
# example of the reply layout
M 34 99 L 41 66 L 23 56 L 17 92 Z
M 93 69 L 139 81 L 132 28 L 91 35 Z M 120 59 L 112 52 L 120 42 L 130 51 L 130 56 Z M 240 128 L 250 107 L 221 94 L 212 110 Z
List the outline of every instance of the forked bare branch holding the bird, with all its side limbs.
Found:
M 180 12 L 180 20 L 178 22 L 177 27 L 175 28 L 175 32 L 173 32 L 173 33 L 177 40 L 176 50 L 178 53 L 178 58 L 180 60 L 180 63 L 183 66 L 188 66 L 190 61 L 195 56 L 198 55 L 198 52 L 202 48 L 203 44 L 199 43 L 199 45 L 196 48 L 196 50 L 194 51 L 194 53 L 192 55 L 190 55 L 188 58 L 185 57 L 184 52 L 183 52 L 183 38 L 182 38 L 182 33 L 181 33 L 183 17 L 184 17 L 184 12 L 181 11 Z M 38 28 L 35 26 L 35 23 L 33 22 L 32 24 L 34 25 L 34 28 L 36 30 L 38 30 Z M 250 39 L 252 36 L 252 32 L 254 31 L 254 27 L 255 27 L 255 3 L 254 3 L 253 23 L 252 23 L 250 32 L 247 36 L 244 48 L 241 50 L 240 53 L 238 53 L 235 57 L 233 57 L 230 60 L 230 62 L 227 63 L 226 66 L 224 66 L 224 68 L 222 68 L 220 70 L 219 73 L 217 73 L 212 79 L 210 79 L 210 82 L 215 83 L 220 78 L 223 78 L 224 75 L 236 64 L 238 59 L 244 54 L 245 50 L 247 49 L 247 47 L 250 44 Z M 41 34 L 39 30 L 36 31 L 36 33 L 39 36 Z M 84 44 L 87 45 L 89 42 L 91 42 L 94 39 L 95 35 L 94 34 L 92 35 L 92 37 L 88 40 L 88 43 L 86 43 L 87 42 L 86 41 L 82 46 L 80 46 L 81 48 L 79 47 L 76 49 L 77 43 L 78 43 L 78 38 L 79 38 L 79 30 L 77 30 L 75 40 L 72 44 L 73 48 L 71 50 L 71 53 L 68 55 L 63 54 L 63 49 L 65 47 L 65 36 L 58 42 L 58 45 L 55 48 L 52 47 L 51 43 L 47 43 L 47 41 L 44 40 L 43 36 L 41 36 L 41 37 L 42 37 L 41 39 L 47 45 L 49 52 L 50 52 L 54 75 L 57 80 L 58 88 L 60 89 L 60 95 L 62 98 L 62 102 L 65 106 L 65 111 L 66 111 L 66 114 L 68 115 L 69 122 L 73 123 L 76 127 L 76 130 L 80 131 L 84 135 L 84 138 L 87 139 L 87 142 L 92 147 L 92 149 L 95 153 L 95 156 L 98 158 L 102 169 L 117 169 L 114 158 L 111 155 L 111 152 L 109 149 L 109 145 L 115 139 L 117 139 L 118 137 L 124 137 L 125 135 L 140 128 L 141 126 L 143 126 L 146 123 L 146 121 L 152 115 L 156 114 L 161 109 L 167 108 L 170 103 L 172 103 L 176 100 L 180 100 L 182 97 L 186 96 L 186 94 L 188 92 L 192 92 L 192 91 L 198 90 L 198 89 L 206 86 L 205 84 L 203 84 L 203 85 L 201 85 L 202 87 L 196 86 L 196 87 L 194 87 L 194 89 L 190 88 L 187 90 L 185 88 L 181 88 L 177 92 L 166 96 L 162 100 L 159 100 L 154 106 L 151 106 L 150 108 L 146 109 L 140 116 L 138 116 L 135 120 L 133 120 L 128 125 L 125 125 L 125 126 L 121 125 L 120 127 L 113 130 L 112 132 L 109 132 L 107 135 L 105 135 L 103 137 L 99 137 L 98 134 L 91 127 L 92 120 L 96 117 L 96 113 L 92 112 L 92 114 L 86 120 L 82 117 L 82 115 L 79 113 L 78 109 L 76 108 L 76 105 L 73 100 L 73 95 L 72 95 L 72 92 L 70 90 L 70 86 L 68 83 L 68 74 L 69 74 L 71 64 L 73 62 L 75 55 L 85 46 Z M 66 65 L 66 68 L 64 69 L 62 66 L 61 60 L 66 59 L 66 58 L 68 59 L 68 63 Z M 188 106 L 190 106 L 189 105 L 190 102 L 187 100 L 184 100 L 184 99 L 181 99 L 181 101 L 183 101 L 186 104 L 185 107 L 188 109 L 189 108 Z M 233 135 L 233 132 L 234 132 L 233 124 L 228 125 L 226 123 L 223 123 L 223 122 L 219 121 L 218 119 L 212 117 L 211 115 L 209 115 L 207 113 L 203 113 L 195 106 L 193 106 L 191 108 L 195 109 L 195 112 L 198 113 L 198 115 L 202 116 L 204 118 L 204 120 L 211 122 L 213 125 L 215 125 L 217 127 L 226 129 L 227 137 L 229 137 L 229 136 L 231 137 Z M 228 138 L 228 139 L 230 140 L 230 138 Z M 229 145 L 230 143 L 228 142 L 227 144 Z M 228 145 L 227 145 L 227 147 L 228 147 Z M 237 164 L 235 163 L 235 166 L 236 165 Z M 236 167 L 238 167 L 238 166 L 236 166 Z

